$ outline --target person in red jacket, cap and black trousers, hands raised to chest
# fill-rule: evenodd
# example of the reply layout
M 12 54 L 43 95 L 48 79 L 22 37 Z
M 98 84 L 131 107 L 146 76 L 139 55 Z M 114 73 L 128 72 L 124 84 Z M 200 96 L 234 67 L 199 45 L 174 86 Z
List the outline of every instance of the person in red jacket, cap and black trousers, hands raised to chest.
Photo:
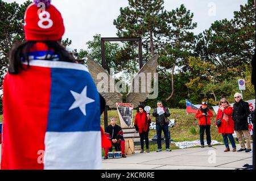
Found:
M 210 145 L 212 142 L 210 138 L 210 117 L 212 116 L 212 111 L 208 108 L 207 102 L 203 102 L 199 110 L 196 111 L 196 119 L 199 119 L 201 148 L 204 148 L 204 131 L 207 134 L 207 145 L 212 146 Z

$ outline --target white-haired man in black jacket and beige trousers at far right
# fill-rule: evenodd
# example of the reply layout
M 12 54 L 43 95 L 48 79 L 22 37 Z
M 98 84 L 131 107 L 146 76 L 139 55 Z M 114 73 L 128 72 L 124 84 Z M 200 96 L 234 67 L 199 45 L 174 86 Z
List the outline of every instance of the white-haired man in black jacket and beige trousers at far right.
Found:
M 235 103 L 233 106 L 232 119 L 234 120 L 234 131 L 236 131 L 237 139 L 241 145 L 241 149 L 237 151 L 251 151 L 250 132 L 248 124 L 248 116 L 250 115 L 249 103 L 242 100 L 242 95 L 236 93 L 234 95 Z M 246 140 L 246 147 L 243 137 Z

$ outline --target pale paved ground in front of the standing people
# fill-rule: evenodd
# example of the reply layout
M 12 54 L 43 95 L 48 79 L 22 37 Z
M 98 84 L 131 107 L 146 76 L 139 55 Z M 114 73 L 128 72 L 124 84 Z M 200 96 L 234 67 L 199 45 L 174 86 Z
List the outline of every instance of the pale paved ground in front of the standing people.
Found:
M 252 147 L 252 146 L 251 146 Z M 215 149 L 214 149 L 215 148 Z M 237 145 L 240 149 L 240 145 Z M 213 148 L 176 149 L 170 152 L 163 150 L 157 153 L 139 153 L 127 155 L 127 158 L 102 160 L 102 169 L 204 169 L 233 170 L 253 164 L 253 153 L 225 152 L 225 146 Z

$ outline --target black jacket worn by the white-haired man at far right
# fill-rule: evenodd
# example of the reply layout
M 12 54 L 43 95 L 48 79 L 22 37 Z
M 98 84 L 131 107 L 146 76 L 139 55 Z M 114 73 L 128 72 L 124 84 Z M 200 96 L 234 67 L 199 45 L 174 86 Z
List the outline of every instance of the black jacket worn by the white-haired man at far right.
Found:
M 232 119 L 234 120 L 234 130 L 249 130 L 248 116 L 250 115 L 249 103 L 244 102 L 242 99 L 240 102 L 234 103 Z

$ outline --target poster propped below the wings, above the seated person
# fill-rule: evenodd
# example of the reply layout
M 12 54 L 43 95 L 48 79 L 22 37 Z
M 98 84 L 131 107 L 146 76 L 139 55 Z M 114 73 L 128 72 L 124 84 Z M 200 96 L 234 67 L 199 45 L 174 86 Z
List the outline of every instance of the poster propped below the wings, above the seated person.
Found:
M 121 128 L 131 128 L 133 125 L 133 104 L 116 103 Z

